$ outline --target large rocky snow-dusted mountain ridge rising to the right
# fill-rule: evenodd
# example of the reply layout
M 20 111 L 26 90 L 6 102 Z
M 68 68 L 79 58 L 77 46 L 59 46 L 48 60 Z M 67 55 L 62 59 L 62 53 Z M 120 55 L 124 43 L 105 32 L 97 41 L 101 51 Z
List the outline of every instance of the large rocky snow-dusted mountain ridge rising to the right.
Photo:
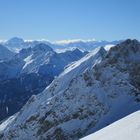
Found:
M 32 96 L 1 139 L 79 139 L 140 109 L 140 43 L 96 49 Z

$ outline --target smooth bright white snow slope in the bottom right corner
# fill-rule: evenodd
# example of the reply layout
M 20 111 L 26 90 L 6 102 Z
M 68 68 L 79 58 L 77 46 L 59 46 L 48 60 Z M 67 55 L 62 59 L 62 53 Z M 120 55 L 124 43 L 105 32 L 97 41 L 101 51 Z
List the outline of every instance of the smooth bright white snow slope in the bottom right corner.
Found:
M 137 111 L 81 140 L 138 140 L 140 111 Z

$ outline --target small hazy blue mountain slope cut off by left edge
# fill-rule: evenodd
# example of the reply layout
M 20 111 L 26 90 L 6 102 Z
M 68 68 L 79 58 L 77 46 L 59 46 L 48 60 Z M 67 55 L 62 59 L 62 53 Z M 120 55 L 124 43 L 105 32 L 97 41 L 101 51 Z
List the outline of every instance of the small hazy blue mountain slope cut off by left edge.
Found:
M 14 55 L 15 53 L 8 50 L 5 46 L 0 45 L 0 61 L 10 60 Z

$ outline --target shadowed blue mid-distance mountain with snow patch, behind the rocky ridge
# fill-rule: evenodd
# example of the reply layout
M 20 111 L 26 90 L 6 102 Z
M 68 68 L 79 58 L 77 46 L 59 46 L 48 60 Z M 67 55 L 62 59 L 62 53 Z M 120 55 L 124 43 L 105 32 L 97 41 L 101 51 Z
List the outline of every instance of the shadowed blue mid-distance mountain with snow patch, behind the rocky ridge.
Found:
M 57 54 L 41 43 L 0 62 L 0 120 L 19 111 L 31 95 L 42 92 L 66 65 L 85 54 L 78 49 Z

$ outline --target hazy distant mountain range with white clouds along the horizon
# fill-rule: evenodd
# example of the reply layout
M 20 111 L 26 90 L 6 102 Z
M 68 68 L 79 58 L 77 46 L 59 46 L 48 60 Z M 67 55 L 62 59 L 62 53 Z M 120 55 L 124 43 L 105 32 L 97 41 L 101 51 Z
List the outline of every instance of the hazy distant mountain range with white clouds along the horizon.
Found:
M 12 51 L 19 51 L 22 48 L 33 47 L 39 43 L 44 43 L 52 47 L 54 50 L 63 51 L 71 48 L 79 48 L 86 51 L 91 51 L 99 46 L 116 45 L 121 41 L 96 41 L 91 40 L 62 40 L 56 42 L 49 42 L 48 40 L 23 40 L 22 38 L 13 37 L 7 41 L 1 42 L 4 46 Z

